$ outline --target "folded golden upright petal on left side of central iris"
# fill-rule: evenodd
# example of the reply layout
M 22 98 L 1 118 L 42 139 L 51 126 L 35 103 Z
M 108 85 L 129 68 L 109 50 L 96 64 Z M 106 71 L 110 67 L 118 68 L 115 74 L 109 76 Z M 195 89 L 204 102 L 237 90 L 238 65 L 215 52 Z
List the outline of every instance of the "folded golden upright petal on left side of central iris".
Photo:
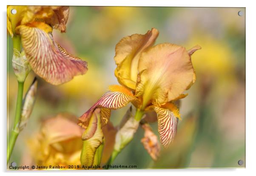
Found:
M 114 59 L 117 64 L 115 75 L 120 84 L 135 90 L 139 57 L 154 44 L 158 34 L 157 29 L 152 28 L 144 35 L 133 34 L 119 41 Z

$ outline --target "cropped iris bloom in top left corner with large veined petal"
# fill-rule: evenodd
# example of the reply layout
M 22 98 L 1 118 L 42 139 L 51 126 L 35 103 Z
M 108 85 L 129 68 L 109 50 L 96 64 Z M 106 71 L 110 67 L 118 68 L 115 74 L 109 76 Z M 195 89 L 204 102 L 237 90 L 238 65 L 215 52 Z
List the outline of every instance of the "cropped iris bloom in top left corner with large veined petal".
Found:
M 12 14 L 12 9 L 17 13 Z M 68 14 L 68 6 L 7 7 L 7 30 L 13 41 L 21 40 L 31 69 L 54 85 L 70 81 L 88 70 L 86 61 L 69 54 L 52 36 L 53 29 L 66 31 Z M 20 43 L 16 43 L 14 48 L 20 48 Z

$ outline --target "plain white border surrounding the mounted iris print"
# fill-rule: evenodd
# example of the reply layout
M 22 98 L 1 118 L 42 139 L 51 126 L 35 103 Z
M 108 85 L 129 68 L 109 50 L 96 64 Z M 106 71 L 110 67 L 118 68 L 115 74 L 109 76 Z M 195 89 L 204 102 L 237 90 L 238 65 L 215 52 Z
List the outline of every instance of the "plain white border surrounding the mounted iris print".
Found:
M 94 170 L 94 171 L 61 171 L 54 172 L 54 175 L 70 175 L 81 174 L 81 175 L 131 175 L 131 174 L 149 174 L 149 175 L 160 175 L 160 174 L 168 174 L 168 175 L 195 175 L 195 176 L 216 176 L 219 174 L 225 175 L 234 175 L 241 176 L 241 174 L 253 175 L 255 174 L 255 124 L 256 117 L 254 112 L 254 102 L 256 100 L 256 84 L 255 84 L 255 70 L 254 66 L 256 65 L 256 55 L 255 55 L 255 17 L 256 17 L 256 9 L 253 6 L 253 0 L 232 0 L 232 1 L 224 1 L 224 0 L 213 0 L 213 1 L 200 1 L 200 0 L 91 0 L 82 2 L 81 0 L 69 0 L 69 1 L 57 1 L 57 0 L 43 0 L 43 1 L 29 1 L 29 0 L 8 0 L 8 2 L 1 2 L 1 39 L 0 42 L 0 50 L 2 57 L 0 58 L 0 74 L 2 84 L 0 86 L 0 112 L 2 113 L 1 125 L 2 125 L 2 144 L 1 148 L 1 159 L 0 166 L 1 171 L 5 172 L 4 175 L 27 175 L 27 174 L 35 174 L 34 172 L 7 172 L 6 173 L 6 6 L 7 5 L 63 5 L 63 6 L 189 6 L 189 7 L 246 7 L 246 169 L 179 169 L 179 170 Z M 37 172 L 38 175 L 45 175 L 44 172 Z

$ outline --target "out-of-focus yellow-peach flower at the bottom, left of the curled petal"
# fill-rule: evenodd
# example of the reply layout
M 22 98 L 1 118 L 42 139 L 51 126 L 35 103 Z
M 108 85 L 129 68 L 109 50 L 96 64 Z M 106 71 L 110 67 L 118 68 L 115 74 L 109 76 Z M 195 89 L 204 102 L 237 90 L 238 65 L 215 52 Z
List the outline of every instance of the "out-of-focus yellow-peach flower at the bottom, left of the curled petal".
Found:
M 37 165 L 80 165 L 83 129 L 76 117 L 59 114 L 45 120 L 40 131 L 28 140 L 31 156 Z

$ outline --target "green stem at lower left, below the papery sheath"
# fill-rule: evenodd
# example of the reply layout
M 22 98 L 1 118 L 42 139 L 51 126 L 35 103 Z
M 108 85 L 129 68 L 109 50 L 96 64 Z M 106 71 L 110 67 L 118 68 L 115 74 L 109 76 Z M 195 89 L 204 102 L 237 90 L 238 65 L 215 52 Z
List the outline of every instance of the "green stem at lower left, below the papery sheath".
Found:
M 22 109 L 23 87 L 24 87 L 24 82 L 18 82 L 18 95 L 17 95 L 14 124 L 13 124 L 13 128 L 11 130 L 11 137 L 8 140 L 8 146 L 7 146 L 7 163 L 9 163 L 9 159 L 11 157 L 12 150 L 14 148 L 16 139 L 20 132 L 19 123 L 20 123 L 20 115 L 21 115 L 21 109 Z

